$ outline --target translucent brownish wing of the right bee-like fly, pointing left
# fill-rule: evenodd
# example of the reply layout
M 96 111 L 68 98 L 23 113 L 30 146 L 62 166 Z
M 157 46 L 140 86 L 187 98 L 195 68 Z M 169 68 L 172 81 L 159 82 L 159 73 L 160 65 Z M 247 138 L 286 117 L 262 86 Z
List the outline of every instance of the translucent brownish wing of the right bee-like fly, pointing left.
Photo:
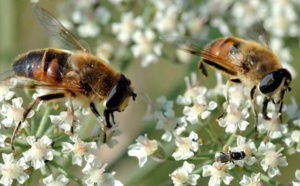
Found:
M 222 51 L 220 51 L 218 56 L 216 56 L 210 52 L 207 52 L 204 48 L 211 41 L 192 37 L 169 36 L 163 36 L 160 37 L 160 39 L 163 42 L 175 46 L 180 50 L 193 55 L 201 56 L 209 61 L 217 63 L 217 65 L 221 68 L 232 71 L 232 74 L 235 74 L 235 71 L 239 71 L 242 67 L 240 60 L 237 60 L 234 55 L 228 55 L 227 53 L 222 54 Z

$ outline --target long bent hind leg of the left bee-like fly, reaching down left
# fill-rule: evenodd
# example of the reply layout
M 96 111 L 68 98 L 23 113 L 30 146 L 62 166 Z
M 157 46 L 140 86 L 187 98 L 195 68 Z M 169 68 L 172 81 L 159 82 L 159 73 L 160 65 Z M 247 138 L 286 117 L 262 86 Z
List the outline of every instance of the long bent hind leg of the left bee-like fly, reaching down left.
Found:
M 60 98 L 64 98 L 66 97 L 66 94 L 65 93 L 55 93 L 55 94 L 47 94 L 47 95 L 43 95 L 43 96 L 39 96 L 37 97 L 33 102 L 31 102 L 29 104 L 29 106 L 26 108 L 26 110 L 24 111 L 23 113 L 23 116 L 21 118 L 21 120 L 19 121 L 19 123 L 17 124 L 14 132 L 13 132 L 13 135 L 12 135 L 12 138 L 11 138 L 11 142 L 10 142 L 10 145 L 11 145 L 11 150 L 14 152 L 15 151 L 15 139 L 16 139 L 16 136 L 20 130 L 20 127 L 22 125 L 22 123 L 25 121 L 25 119 L 27 118 L 29 112 L 32 110 L 32 108 L 38 104 L 40 101 L 50 101 L 50 100 L 54 100 L 54 99 L 60 99 Z

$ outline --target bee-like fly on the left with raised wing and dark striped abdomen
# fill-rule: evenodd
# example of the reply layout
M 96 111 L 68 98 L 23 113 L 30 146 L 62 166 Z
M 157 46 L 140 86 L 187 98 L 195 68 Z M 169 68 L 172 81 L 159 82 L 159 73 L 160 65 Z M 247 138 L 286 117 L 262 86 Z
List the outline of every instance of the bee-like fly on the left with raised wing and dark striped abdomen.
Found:
M 101 121 L 103 142 L 106 129 L 115 124 L 114 112 L 122 112 L 132 98 L 135 100 L 131 81 L 118 73 L 104 59 L 92 55 L 53 15 L 36 5 L 32 10 L 44 29 L 58 41 L 75 50 L 45 48 L 19 55 L 12 66 L 13 78 L 30 82 L 29 88 L 55 90 L 33 100 L 25 109 L 21 121 L 17 124 L 11 139 L 14 141 L 21 123 L 29 112 L 41 101 L 53 101 L 68 98 L 72 110 L 72 100 L 89 105 L 92 113 Z M 104 118 L 95 104 L 105 101 Z M 113 124 L 112 124 L 112 122 Z M 73 126 L 71 127 L 73 133 Z

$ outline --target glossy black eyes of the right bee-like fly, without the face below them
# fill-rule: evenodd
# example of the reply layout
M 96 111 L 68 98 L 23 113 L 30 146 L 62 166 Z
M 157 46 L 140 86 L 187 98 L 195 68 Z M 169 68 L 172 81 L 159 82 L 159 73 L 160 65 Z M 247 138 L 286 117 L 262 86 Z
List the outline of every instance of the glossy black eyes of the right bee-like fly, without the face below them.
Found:
M 259 90 L 263 94 L 274 92 L 282 83 L 283 78 L 289 79 L 287 70 L 279 69 L 267 74 L 259 84 Z

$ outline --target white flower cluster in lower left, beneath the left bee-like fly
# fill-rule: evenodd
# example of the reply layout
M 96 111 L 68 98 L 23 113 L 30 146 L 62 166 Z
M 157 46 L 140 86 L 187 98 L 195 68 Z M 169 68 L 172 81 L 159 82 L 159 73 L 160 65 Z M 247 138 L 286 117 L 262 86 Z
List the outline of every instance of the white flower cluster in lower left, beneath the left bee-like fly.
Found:
M 8 92 L 7 95 L 11 95 L 11 93 Z M 6 101 L 2 104 L 1 108 L 3 119 L 0 128 L 0 146 L 3 148 L 4 152 L 7 151 L 7 148 L 10 149 L 10 143 L 8 142 L 11 139 L 11 134 L 7 134 L 7 131 L 4 131 L 3 129 L 14 128 L 23 117 L 25 111 L 25 108 L 22 107 L 23 99 L 21 97 L 13 98 L 13 96 L 11 96 L 11 103 L 9 99 L 5 98 L 5 100 Z M 39 109 L 44 108 L 39 106 Z M 52 108 L 47 107 L 45 112 L 50 109 Z M 38 123 L 38 129 L 35 133 L 36 136 L 39 136 L 40 133 L 42 133 L 41 137 L 38 138 L 29 135 L 31 132 L 28 131 L 28 120 L 36 117 L 35 112 L 31 110 L 26 120 L 21 124 L 20 129 L 25 130 L 25 133 L 28 136 L 24 138 L 24 135 L 19 136 L 19 134 L 17 134 L 17 143 L 24 146 L 24 148 L 21 148 L 24 152 L 17 156 L 14 156 L 13 153 L 2 153 L 2 163 L 0 163 L 0 183 L 3 185 L 12 185 L 13 180 L 17 180 L 18 183 L 23 184 L 30 177 L 30 169 L 42 171 L 46 168 L 49 169 L 49 164 L 59 169 L 62 167 L 60 167 L 57 161 L 61 158 L 65 160 L 70 158 L 72 165 L 83 167 L 82 172 L 85 174 L 85 177 L 82 180 L 75 180 L 78 183 L 82 182 L 85 185 L 122 185 L 120 181 L 114 178 L 114 172 L 105 172 L 107 164 L 101 163 L 97 156 L 93 154 L 93 152 L 100 147 L 97 146 L 96 142 L 84 142 L 77 134 L 70 136 L 70 139 L 67 140 L 66 134 L 59 131 L 53 133 L 53 131 L 55 131 L 54 127 L 57 127 L 57 129 L 63 130 L 66 133 L 70 132 L 71 125 L 75 122 L 74 118 L 80 118 L 80 116 L 84 114 L 79 110 L 81 109 L 76 108 L 74 113 L 69 110 L 62 111 L 59 116 L 45 113 L 45 116 L 50 118 L 49 121 L 52 122 L 52 126 L 48 130 L 43 128 L 46 122 L 42 119 Z M 79 122 L 76 122 L 76 124 L 79 124 Z M 75 131 L 77 130 L 78 127 L 75 128 Z M 59 135 L 66 139 L 63 142 L 57 143 L 53 138 L 57 139 Z M 112 138 L 113 135 L 110 135 L 109 137 Z M 112 141 L 112 139 L 108 140 Z M 58 148 L 56 148 L 56 146 L 58 146 Z M 21 149 L 18 148 L 17 151 L 19 152 Z M 43 183 L 45 185 L 67 185 L 70 177 L 74 177 L 72 174 L 61 174 L 54 179 L 53 174 L 51 174 L 50 171 L 46 171 L 44 172 L 45 179 L 43 179 Z

